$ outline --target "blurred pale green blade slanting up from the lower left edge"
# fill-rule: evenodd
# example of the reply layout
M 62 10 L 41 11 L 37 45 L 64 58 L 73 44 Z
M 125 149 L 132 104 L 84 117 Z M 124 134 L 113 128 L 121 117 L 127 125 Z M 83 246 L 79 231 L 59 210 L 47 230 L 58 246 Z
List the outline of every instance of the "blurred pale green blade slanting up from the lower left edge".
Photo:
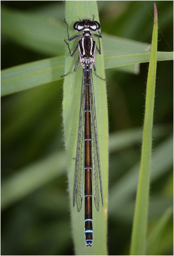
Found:
M 12 175 L 1 186 L 2 209 L 61 175 L 65 162 L 65 154 L 56 152 Z

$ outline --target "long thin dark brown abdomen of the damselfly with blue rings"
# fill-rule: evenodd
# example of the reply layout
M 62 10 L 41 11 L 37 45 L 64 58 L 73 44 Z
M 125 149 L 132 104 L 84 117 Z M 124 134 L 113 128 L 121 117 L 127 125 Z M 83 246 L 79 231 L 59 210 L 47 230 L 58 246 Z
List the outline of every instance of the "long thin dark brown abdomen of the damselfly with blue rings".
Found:
M 92 227 L 92 163 L 91 163 L 91 109 L 90 109 L 90 70 L 84 70 L 84 232 L 86 245 L 93 241 Z

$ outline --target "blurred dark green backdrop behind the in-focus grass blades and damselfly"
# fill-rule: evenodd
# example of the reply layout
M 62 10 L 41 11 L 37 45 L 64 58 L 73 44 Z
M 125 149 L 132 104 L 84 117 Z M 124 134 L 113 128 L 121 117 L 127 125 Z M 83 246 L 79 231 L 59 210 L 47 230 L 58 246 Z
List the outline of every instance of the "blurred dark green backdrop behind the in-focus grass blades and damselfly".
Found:
M 158 51 L 173 51 L 173 1 L 156 1 L 156 4 Z M 99 1 L 98 7 L 103 33 L 150 44 L 152 1 Z M 64 2 L 1 1 L 1 15 L 3 8 L 59 22 L 63 34 L 58 52 L 64 55 Z M 83 18 L 80 13 L 79 17 Z M 5 22 L 8 20 L 1 22 L 2 69 L 52 57 L 10 38 L 3 31 Z M 44 33 L 44 28 L 40 29 Z M 139 74 L 116 68 L 106 70 L 110 255 L 129 254 L 147 72 L 148 63 L 140 65 Z M 63 147 L 62 87 L 60 80 L 1 98 L 2 255 L 74 254 Z M 173 61 L 157 63 L 155 95 L 149 234 L 164 212 L 173 208 Z M 51 172 L 47 172 L 49 168 Z M 13 196 L 17 189 L 20 193 Z M 9 196 L 11 199 L 6 199 Z M 173 255 L 172 218 L 164 225 L 154 254 Z

